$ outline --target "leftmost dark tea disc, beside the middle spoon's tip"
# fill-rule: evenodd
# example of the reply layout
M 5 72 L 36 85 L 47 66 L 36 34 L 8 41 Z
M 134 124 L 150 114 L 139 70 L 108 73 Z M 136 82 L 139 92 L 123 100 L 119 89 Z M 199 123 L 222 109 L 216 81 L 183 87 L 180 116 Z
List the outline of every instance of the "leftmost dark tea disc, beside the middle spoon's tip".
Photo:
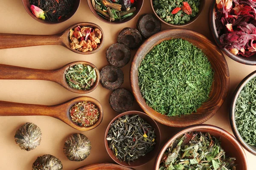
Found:
M 119 88 L 124 82 L 124 74 L 120 68 L 107 65 L 100 72 L 100 83 L 108 90 Z

